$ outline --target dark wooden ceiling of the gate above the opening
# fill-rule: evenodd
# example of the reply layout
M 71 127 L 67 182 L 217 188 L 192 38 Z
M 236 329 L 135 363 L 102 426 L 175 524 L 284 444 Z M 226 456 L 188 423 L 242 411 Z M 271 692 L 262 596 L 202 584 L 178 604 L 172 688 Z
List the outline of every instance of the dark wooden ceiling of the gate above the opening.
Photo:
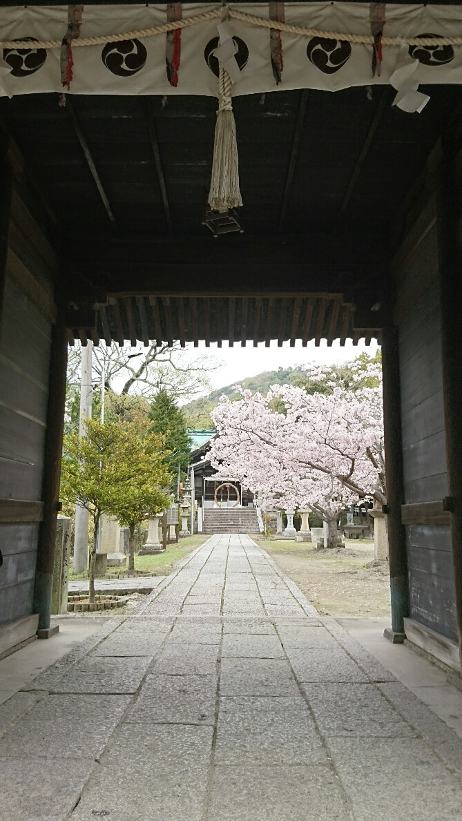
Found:
M 74 335 L 213 341 L 222 317 L 222 338 L 239 342 L 377 337 L 392 229 L 460 111 L 457 86 L 423 90 L 421 114 L 393 108 L 388 86 L 236 97 L 244 233 L 217 239 L 202 224 L 215 99 L 0 99 L 21 185 L 61 259 Z

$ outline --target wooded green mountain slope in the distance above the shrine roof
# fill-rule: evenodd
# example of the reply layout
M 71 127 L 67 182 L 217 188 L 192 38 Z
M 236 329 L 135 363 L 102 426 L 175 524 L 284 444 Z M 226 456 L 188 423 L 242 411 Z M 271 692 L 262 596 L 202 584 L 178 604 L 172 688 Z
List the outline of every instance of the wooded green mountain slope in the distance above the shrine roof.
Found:
M 277 370 L 264 370 L 262 374 L 248 376 L 239 383 L 243 388 L 248 388 L 253 393 L 258 391 L 266 396 L 271 385 L 296 385 L 299 381 L 306 380 L 306 373 L 301 368 L 278 368 Z M 234 383 L 236 384 L 236 383 Z M 237 393 L 233 385 L 226 385 L 224 388 L 217 388 L 206 397 L 193 399 L 187 405 L 181 406 L 185 414 L 188 427 L 194 430 L 213 428 L 210 419 L 210 411 L 217 406 L 220 397 L 225 394 L 230 399 L 236 399 Z

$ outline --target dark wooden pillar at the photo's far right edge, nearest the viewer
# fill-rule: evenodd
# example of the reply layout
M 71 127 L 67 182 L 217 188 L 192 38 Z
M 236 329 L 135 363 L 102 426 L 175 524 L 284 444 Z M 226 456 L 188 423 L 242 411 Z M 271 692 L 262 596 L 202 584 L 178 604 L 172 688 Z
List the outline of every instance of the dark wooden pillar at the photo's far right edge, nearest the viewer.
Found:
M 446 470 L 451 517 L 455 609 L 462 670 L 462 299 L 460 283 L 460 172 L 443 159 L 437 172 L 437 236 L 441 305 L 441 365 Z

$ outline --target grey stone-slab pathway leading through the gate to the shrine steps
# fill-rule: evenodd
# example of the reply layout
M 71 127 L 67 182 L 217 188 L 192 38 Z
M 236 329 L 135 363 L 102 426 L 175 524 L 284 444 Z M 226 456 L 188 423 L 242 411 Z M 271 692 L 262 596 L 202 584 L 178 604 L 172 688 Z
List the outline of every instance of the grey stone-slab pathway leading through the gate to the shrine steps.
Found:
M 0 706 L 9 821 L 453 821 L 462 740 L 249 537 Z

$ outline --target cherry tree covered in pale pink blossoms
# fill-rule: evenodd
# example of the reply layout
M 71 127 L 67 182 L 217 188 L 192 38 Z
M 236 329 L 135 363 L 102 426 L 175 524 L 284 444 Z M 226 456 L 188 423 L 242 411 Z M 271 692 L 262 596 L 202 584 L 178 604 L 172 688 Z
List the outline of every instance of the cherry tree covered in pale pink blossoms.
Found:
M 359 499 L 386 502 L 379 364 L 353 369 L 348 388 L 314 369 L 328 393 L 275 385 L 268 395 L 241 391 L 213 411 L 210 456 L 224 475 L 258 493 L 262 507 L 302 507 L 327 522 L 336 544 L 341 510 Z

